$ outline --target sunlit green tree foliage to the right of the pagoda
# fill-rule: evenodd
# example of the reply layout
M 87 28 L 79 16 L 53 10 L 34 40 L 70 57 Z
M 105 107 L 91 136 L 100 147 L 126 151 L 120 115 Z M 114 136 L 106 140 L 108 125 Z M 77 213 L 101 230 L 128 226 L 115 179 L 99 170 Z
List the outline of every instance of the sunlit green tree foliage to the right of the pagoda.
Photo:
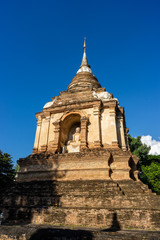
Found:
M 157 194 L 160 194 L 160 155 L 149 155 L 150 147 L 142 144 L 141 137 L 128 135 L 130 150 L 139 157 L 138 170 L 140 180 Z

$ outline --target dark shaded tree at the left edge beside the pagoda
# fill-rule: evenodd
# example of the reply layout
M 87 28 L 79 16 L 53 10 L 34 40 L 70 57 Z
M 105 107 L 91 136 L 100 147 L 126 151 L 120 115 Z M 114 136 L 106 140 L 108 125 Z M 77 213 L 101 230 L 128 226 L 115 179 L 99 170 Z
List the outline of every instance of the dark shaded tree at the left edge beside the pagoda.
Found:
M 6 188 L 13 182 L 16 170 L 12 163 L 12 157 L 0 150 L 0 188 Z

